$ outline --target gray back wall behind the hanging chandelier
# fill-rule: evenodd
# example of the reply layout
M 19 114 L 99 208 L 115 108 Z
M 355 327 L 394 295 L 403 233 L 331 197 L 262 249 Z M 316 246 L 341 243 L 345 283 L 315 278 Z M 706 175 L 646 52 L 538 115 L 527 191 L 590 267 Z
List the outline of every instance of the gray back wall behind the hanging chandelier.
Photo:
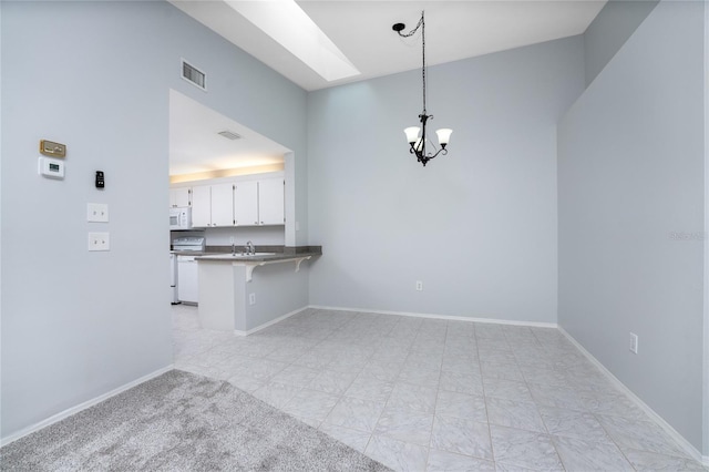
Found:
M 429 68 L 431 127 L 454 131 L 425 168 L 403 134 L 420 70 L 310 93 L 310 302 L 555 324 L 556 122 L 583 58 L 575 37 Z

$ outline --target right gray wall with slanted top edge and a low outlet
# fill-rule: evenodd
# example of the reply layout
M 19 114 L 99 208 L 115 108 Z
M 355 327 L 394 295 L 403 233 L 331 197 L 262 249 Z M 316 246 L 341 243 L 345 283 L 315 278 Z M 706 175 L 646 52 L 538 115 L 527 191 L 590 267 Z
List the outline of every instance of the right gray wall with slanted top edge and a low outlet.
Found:
M 698 450 L 703 34 L 660 2 L 558 131 L 559 325 Z

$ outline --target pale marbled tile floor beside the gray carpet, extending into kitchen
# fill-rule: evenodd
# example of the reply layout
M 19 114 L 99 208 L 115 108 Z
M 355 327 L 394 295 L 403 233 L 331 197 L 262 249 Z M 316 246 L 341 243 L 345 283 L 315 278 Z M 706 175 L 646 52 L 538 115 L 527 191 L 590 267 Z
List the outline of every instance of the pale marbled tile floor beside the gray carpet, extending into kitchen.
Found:
M 175 367 L 398 471 L 702 471 L 558 330 L 307 309 L 248 337 L 175 306 Z

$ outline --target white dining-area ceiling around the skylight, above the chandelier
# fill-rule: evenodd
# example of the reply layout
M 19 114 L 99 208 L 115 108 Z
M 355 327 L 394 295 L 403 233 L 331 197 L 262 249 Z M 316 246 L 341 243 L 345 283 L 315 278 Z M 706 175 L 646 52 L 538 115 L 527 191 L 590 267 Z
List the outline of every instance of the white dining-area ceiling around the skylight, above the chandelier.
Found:
M 328 82 L 251 24 L 234 8 L 245 0 L 171 0 L 271 69 L 312 91 L 421 66 L 417 34 L 401 39 L 394 23 L 412 29 L 425 10 L 427 62 L 456 61 L 580 34 L 606 0 L 301 0 L 300 8 L 359 69 L 361 75 Z

